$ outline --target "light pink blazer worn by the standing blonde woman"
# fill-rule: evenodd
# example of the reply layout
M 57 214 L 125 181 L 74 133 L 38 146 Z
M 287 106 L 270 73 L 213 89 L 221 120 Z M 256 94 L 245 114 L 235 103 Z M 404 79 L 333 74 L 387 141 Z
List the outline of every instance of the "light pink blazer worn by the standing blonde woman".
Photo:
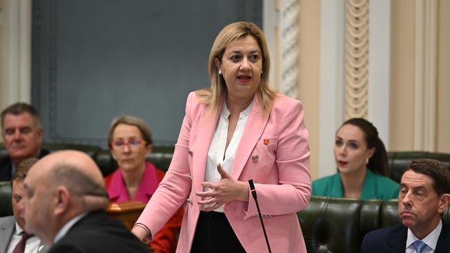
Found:
M 258 97 L 253 101 L 231 176 L 244 182 L 255 181 L 272 252 L 306 252 L 296 216 L 296 212 L 307 207 L 311 196 L 308 132 L 302 104 L 278 95 L 270 114 L 264 115 Z M 181 253 L 190 252 L 192 245 L 200 212 L 195 192 L 202 190 L 207 153 L 219 117 L 219 112 L 207 112 L 207 106 L 190 93 L 170 168 L 137 221 L 155 234 L 183 205 L 185 213 L 177 246 Z M 224 212 L 246 252 L 267 250 L 251 194 L 249 202 L 227 203 Z

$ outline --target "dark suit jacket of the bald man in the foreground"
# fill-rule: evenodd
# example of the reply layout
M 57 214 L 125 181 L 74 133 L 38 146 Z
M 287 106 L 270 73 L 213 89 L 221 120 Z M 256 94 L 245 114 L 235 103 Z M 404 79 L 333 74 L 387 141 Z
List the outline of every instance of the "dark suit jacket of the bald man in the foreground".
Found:
M 48 253 L 151 252 L 123 223 L 103 211 L 90 212 L 57 241 Z

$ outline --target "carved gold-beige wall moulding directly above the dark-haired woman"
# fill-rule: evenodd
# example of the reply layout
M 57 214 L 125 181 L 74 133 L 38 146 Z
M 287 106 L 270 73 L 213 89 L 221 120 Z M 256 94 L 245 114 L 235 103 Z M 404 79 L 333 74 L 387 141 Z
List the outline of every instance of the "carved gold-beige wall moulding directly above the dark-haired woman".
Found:
M 366 118 L 369 1 L 348 0 L 345 16 L 345 118 Z

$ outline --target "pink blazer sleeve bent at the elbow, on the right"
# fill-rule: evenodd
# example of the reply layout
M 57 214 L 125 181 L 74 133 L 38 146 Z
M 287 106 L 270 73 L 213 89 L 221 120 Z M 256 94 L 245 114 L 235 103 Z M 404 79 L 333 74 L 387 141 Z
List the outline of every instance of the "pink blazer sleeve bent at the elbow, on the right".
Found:
M 302 104 L 298 100 L 284 101 L 272 109 L 276 111 L 271 112 L 280 115 L 280 120 L 278 117 L 276 119 L 279 122 L 275 162 L 278 184 L 255 184 L 258 203 L 264 214 L 296 213 L 307 207 L 311 197 L 308 131 L 303 121 Z M 249 193 L 249 206 L 244 219 L 255 215 L 258 211 Z

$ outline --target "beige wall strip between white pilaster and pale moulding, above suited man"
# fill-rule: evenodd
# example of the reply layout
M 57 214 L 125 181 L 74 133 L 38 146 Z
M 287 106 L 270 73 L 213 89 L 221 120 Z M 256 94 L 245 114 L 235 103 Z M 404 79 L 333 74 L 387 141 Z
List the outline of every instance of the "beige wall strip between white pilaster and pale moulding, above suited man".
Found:
M 390 56 L 390 150 L 414 147 L 415 5 L 392 1 Z

